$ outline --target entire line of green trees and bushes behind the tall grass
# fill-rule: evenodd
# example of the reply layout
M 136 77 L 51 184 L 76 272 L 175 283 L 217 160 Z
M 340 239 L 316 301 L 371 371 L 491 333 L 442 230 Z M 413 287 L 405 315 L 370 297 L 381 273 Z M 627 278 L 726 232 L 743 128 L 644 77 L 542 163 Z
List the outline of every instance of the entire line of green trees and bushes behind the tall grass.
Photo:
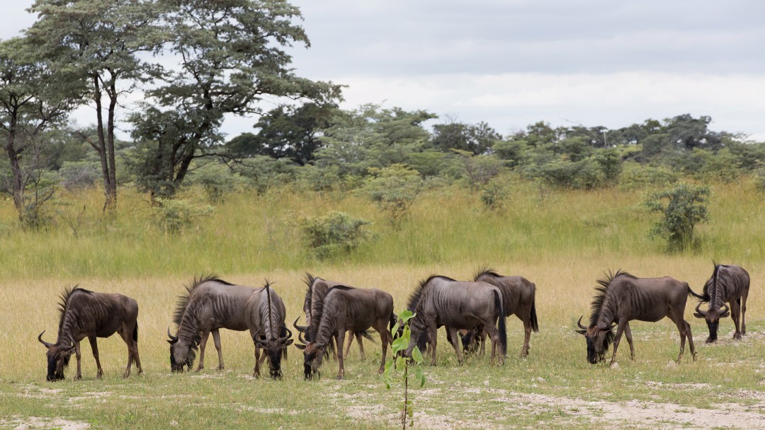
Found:
M 30 11 L 23 35 L 0 41 L 0 189 L 22 225 L 41 222 L 56 189 L 93 185 L 105 212 L 118 184 L 160 205 L 189 182 L 212 199 L 239 186 L 365 189 L 396 222 L 438 183 L 501 205 L 506 174 L 571 189 L 752 174 L 765 184 L 765 144 L 712 131 L 708 116 L 617 129 L 540 121 L 503 135 L 424 110 L 339 108 L 342 86 L 289 67 L 287 48 L 310 43 L 286 1 L 37 0 Z M 128 111 L 131 94 L 142 99 Z M 93 125 L 68 124 L 83 105 Z M 226 140 L 225 115 L 259 120 Z

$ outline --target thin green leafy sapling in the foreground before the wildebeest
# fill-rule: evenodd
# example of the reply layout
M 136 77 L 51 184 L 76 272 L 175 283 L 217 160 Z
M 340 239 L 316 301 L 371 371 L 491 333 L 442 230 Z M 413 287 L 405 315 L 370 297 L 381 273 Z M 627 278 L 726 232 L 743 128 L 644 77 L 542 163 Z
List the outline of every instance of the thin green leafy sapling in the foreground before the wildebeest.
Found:
M 415 380 L 420 383 L 420 387 L 425 386 L 425 373 L 422 372 L 422 363 L 424 359 L 422 352 L 415 346 L 412 349 L 412 357 L 405 357 L 406 349 L 409 348 L 409 341 L 412 338 L 412 331 L 409 329 L 409 320 L 415 317 L 415 314 L 408 309 L 399 312 L 399 318 L 396 325 L 391 328 L 393 335 L 393 344 L 391 345 L 391 357 L 386 360 L 385 370 L 382 373 L 382 379 L 385 381 L 386 389 L 390 390 L 396 383 L 404 385 L 404 400 L 399 403 L 401 412 L 401 426 L 406 428 L 406 420 L 409 419 L 409 425 L 414 426 L 415 409 L 412 406 L 412 400 L 409 399 L 409 364 L 410 361 L 415 365 Z

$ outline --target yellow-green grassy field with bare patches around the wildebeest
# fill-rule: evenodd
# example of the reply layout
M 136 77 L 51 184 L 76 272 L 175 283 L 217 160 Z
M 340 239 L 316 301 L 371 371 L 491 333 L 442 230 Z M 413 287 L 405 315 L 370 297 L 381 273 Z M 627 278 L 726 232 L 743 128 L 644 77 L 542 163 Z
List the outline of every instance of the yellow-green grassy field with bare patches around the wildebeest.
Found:
M 176 297 L 195 274 L 214 271 L 234 283 L 260 286 L 268 278 L 285 299 L 288 320 L 300 315 L 306 270 L 354 286 L 392 294 L 396 309 L 418 280 L 431 273 L 466 279 L 483 265 L 522 274 L 536 283 L 540 332 L 528 358 L 519 359 L 520 322 L 508 319 L 503 366 L 489 357 L 457 365 L 441 333 L 438 365 L 428 383 L 412 390 L 418 428 L 754 428 L 765 425 L 765 207 L 751 186 L 715 186 L 711 221 L 701 225 L 697 251 L 662 253 L 646 238 L 653 215 L 640 209 L 640 192 L 540 192 L 519 184 L 500 212 L 486 212 L 475 196 L 449 189 L 425 196 L 400 230 L 387 225 L 360 196 L 272 192 L 231 196 L 212 218 L 180 236 L 164 234 L 150 209 L 123 192 L 119 215 L 100 220 L 98 192 L 70 196 L 63 215 L 86 206 L 74 237 L 59 221 L 47 231 L 17 232 L 8 202 L 0 205 L 0 428 L 396 428 L 400 390 L 385 390 L 376 374 L 379 341 L 366 341 L 366 360 L 354 346 L 345 380 L 325 361 L 321 380 L 302 380 L 302 354 L 289 351 L 285 378 L 254 380 L 252 342 L 222 332 L 226 370 L 172 374 L 164 334 Z M 304 250 L 293 222 L 342 210 L 374 221 L 376 241 L 342 260 L 319 261 Z M 677 364 L 679 336 L 669 321 L 633 323 L 636 360 L 626 342 L 618 367 L 591 366 L 581 335 L 595 280 L 623 268 L 636 276 L 674 276 L 699 292 L 712 259 L 739 263 L 752 286 L 747 336 L 732 341 L 730 318 L 721 341 L 705 344 L 705 324 L 688 299 L 698 361 Z M 37 335 L 57 328 L 57 296 L 80 283 L 138 300 L 138 348 L 145 373 L 127 380 L 125 344 L 99 341 L 106 372 L 96 380 L 90 348 L 83 380 L 44 380 L 44 347 Z M 72 360 L 74 363 L 74 360 Z M 70 366 L 67 377 L 74 368 Z M 26 425 L 27 427 L 23 427 Z

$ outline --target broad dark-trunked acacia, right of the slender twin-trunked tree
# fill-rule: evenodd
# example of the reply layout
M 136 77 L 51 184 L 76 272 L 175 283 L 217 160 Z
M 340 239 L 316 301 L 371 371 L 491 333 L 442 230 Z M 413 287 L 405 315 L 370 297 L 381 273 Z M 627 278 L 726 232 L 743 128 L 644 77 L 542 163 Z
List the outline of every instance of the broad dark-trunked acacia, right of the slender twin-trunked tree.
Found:
M 221 154 L 223 116 L 260 114 L 259 101 L 340 98 L 340 86 L 295 76 L 285 47 L 309 46 L 295 24 L 300 11 L 284 0 L 158 0 L 165 57 L 177 60 L 158 73 L 145 111 L 132 115 L 135 138 L 158 148 L 147 159 L 158 183 L 183 183 L 192 160 Z M 153 108 L 148 105 L 151 103 Z M 161 113 L 161 114 L 160 114 Z M 182 121 L 167 121 L 167 118 Z M 148 151 L 147 154 L 152 154 Z M 164 164 L 162 164 L 164 163 Z

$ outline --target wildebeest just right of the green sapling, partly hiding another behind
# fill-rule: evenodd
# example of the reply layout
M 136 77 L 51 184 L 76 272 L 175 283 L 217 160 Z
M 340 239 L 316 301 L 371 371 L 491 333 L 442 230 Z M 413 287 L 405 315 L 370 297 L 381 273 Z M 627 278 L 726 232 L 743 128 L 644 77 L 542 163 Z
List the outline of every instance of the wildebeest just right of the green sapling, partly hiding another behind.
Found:
M 496 351 L 499 350 L 500 362 L 504 363 L 507 348 L 505 312 L 502 292 L 496 286 L 432 275 L 423 280 L 412 296 L 409 296 L 408 307 L 415 307 L 415 317 L 409 320 L 412 334 L 406 349 L 407 356 L 412 355 L 415 344 L 422 344 L 422 336 L 425 335 L 431 342 L 431 364 L 435 365 L 437 330 L 441 325 L 446 325 L 454 352 L 462 364 L 457 329 L 470 329 L 483 324 L 481 334 L 490 335 L 492 340 L 491 362 L 494 362 Z M 497 318 L 499 329 L 495 325 Z

